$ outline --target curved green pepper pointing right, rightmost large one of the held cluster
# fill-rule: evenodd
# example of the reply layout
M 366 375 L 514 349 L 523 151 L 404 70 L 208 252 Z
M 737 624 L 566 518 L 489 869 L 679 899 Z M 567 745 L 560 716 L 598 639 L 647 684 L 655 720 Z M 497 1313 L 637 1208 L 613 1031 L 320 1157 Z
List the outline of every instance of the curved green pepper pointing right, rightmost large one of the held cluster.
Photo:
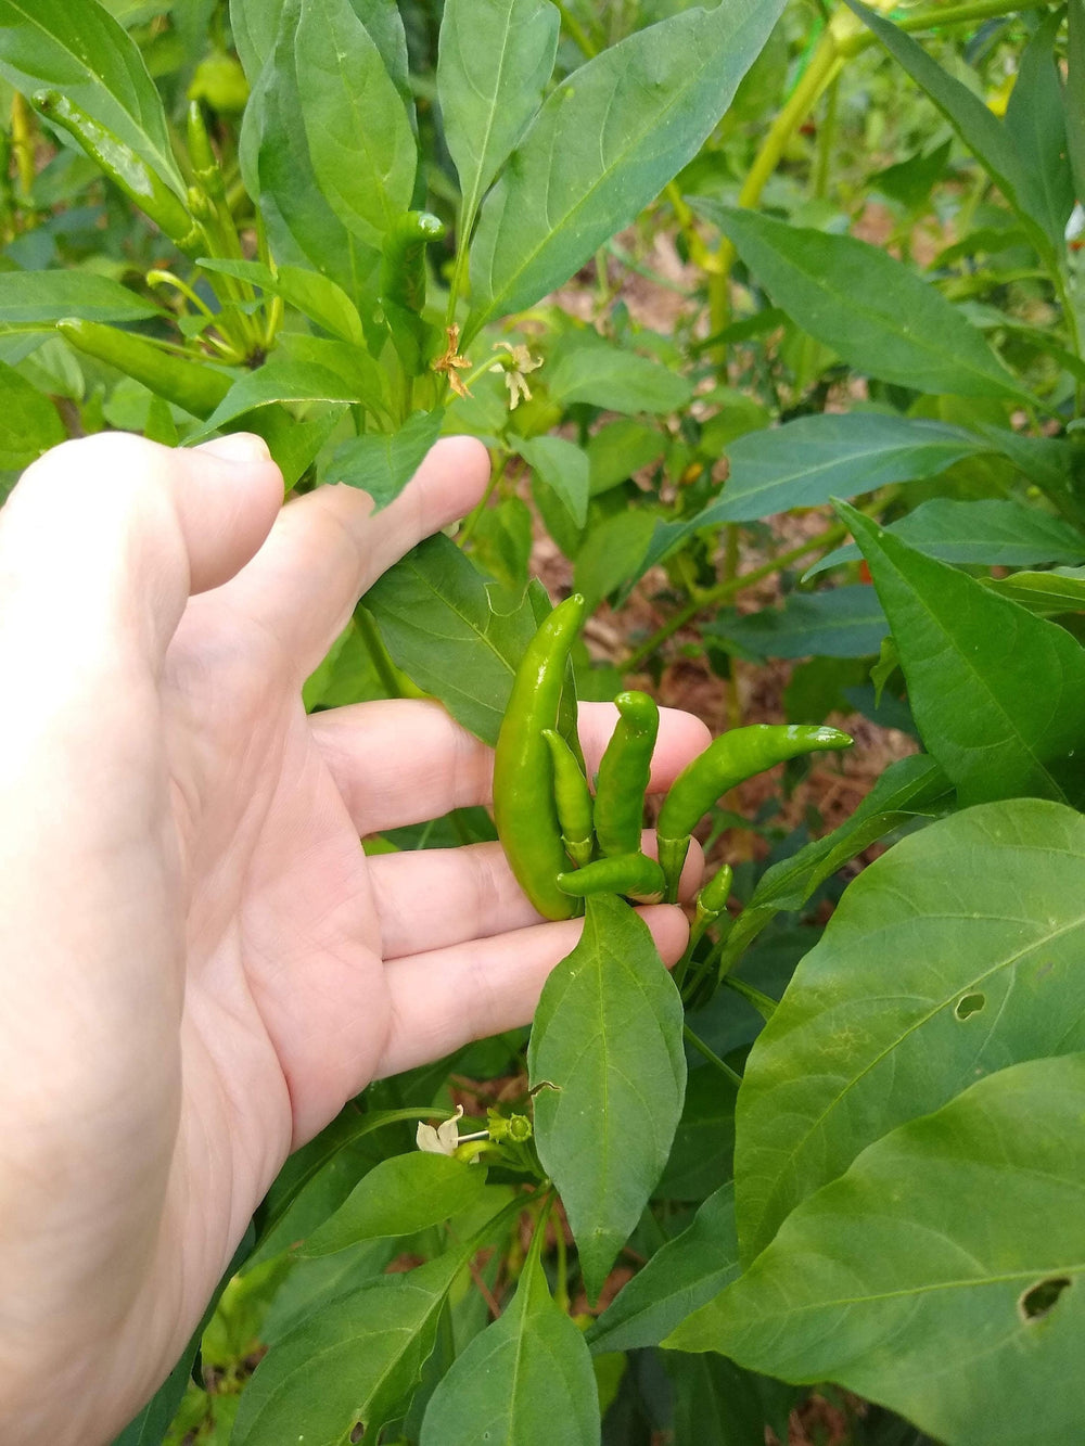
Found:
M 718 798 L 787 758 L 851 748 L 852 742 L 835 727 L 754 723 L 732 729 L 709 743 L 671 784 L 655 826 L 670 902 L 678 897 L 678 879 L 693 830 Z

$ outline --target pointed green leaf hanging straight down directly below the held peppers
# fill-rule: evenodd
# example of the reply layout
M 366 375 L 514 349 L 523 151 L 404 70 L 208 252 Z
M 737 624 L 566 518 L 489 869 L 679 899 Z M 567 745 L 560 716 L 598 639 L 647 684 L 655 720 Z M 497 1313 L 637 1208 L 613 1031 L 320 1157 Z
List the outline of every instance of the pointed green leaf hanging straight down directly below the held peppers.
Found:
M 615 895 L 587 899 L 580 943 L 542 986 L 528 1070 L 538 1157 L 593 1300 L 667 1164 L 686 1087 L 681 1018 L 639 915 Z

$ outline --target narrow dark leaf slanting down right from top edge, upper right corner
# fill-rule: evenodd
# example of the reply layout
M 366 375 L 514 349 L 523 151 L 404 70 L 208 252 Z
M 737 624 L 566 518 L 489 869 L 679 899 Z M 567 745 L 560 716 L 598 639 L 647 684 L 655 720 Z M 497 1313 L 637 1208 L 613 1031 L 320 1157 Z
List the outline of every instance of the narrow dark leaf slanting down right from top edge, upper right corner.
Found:
M 861 4 L 859 0 L 845 0 L 845 3 L 869 26 L 913 81 L 927 93 L 1018 214 L 1033 244 L 1050 254 L 1050 243 L 1039 224 L 1037 187 L 1010 129 L 994 116 L 978 95 L 974 95 L 966 85 L 949 75 L 937 61 L 933 61 L 910 35 Z M 1059 244 L 1062 244 L 1060 239 Z

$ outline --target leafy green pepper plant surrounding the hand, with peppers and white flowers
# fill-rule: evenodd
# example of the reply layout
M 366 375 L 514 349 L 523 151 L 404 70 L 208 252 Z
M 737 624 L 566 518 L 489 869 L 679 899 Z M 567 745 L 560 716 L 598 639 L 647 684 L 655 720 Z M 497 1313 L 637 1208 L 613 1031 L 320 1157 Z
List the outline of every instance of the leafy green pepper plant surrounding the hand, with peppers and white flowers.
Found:
M 762 1443 L 814 1388 L 855 1443 L 1073 1439 L 1085 0 L 0 0 L 0 75 L 3 490 L 68 434 L 244 428 L 288 489 L 383 506 L 482 437 L 485 503 L 307 703 L 421 691 L 502 737 L 512 862 L 542 912 L 584 899 L 529 1038 L 286 1163 L 120 1442 Z M 553 615 L 541 532 L 582 599 Z M 660 872 L 681 665 L 728 732 Z M 619 706 L 597 781 L 576 693 Z M 827 719 L 848 759 L 916 743 L 793 827 Z M 668 976 L 629 899 L 706 808 Z

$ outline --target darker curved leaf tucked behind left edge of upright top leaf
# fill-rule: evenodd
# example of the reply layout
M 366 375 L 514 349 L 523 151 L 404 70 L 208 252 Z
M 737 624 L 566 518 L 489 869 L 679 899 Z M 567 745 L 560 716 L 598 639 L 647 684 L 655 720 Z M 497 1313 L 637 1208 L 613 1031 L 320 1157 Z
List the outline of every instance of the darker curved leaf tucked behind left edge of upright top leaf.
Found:
M 376 295 L 380 252 L 346 228 L 312 172 L 294 59 L 299 14 L 301 0 L 285 0 L 275 52 L 244 108 L 242 176 L 275 257 L 305 262 L 359 299 Z

